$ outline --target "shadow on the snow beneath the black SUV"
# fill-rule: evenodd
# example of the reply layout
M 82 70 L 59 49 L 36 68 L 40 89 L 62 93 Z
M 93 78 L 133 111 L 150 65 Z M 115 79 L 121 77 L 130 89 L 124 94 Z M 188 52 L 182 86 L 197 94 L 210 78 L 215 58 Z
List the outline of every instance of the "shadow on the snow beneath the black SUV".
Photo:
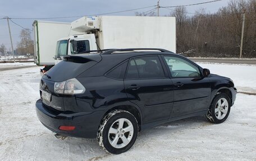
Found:
M 153 128 L 149 128 L 148 130 L 144 130 L 139 132 L 138 138 L 135 142 L 135 146 L 132 148 L 133 150 L 136 150 L 136 148 L 141 148 L 145 144 L 148 144 L 150 142 L 149 140 L 155 140 L 158 139 L 158 137 L 162 136 L 172 136 L 177 134 L 182 134 L 182 131 L 190 128 L 202 128 L 204 126 L 211 126 L 212 123 L 208 122 L 204 116 L 197 116 L 197 117 L 191 117 L 186 119 L 181 119 L 179 121 L 173 121 L 169 123 L 164 123 L 162 125 L 158 125 Z M 68 137 L 66 140 L 67 144 L 72 144 L 71 146 L 79 146 L 81 151 L 87 151 L 90 152 L 93 157 L 99 157 L 103 156 L 107 157 L 108 154 L 104 152 L 102 148 L 99 147 L 98 142 L 95 139 L 82 139 L 82 138 L 74 138 L 74 137 Z M 88 151 L 89 149 L 89 151 Z

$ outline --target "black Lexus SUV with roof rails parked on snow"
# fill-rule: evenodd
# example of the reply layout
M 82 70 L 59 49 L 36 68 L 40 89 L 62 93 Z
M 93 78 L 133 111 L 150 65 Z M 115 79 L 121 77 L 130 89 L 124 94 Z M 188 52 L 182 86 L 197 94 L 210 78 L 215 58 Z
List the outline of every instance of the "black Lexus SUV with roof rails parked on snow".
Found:
M 66 56 L 40 81 L 39 120 L 57 136 L 95 138 L 109 153 L 131 148 L 138 131 L 205 115 L 225 121 L 234 82 L 164 49 L 111 49 Z

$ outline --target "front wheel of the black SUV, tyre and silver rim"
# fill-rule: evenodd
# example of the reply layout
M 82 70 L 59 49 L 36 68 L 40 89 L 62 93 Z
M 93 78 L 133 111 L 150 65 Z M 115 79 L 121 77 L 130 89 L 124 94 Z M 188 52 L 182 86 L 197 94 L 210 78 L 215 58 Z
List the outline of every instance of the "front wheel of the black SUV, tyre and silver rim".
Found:
M 215 96 L 209 108 L 206 118 L 212 123 L 224 122 L 230 113 L 230 98 L 225 93 L 219 93 Z

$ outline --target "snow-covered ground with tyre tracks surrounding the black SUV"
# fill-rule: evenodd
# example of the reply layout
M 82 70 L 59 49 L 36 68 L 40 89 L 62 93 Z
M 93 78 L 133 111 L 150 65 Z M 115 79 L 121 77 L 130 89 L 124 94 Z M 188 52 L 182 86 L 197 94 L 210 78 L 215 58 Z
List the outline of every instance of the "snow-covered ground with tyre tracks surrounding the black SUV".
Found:
M 200 63 L 230 76 L 239 90 L 256 90 L 256 66 Z M 227 121 L 204 117 L 139 133 L 126 153 L 105 153 L 94 139 L 58 140 L 36 117 L 39 67 L 0 71 L 0 160 L 256 160 L 255 95 L 237 94 Z

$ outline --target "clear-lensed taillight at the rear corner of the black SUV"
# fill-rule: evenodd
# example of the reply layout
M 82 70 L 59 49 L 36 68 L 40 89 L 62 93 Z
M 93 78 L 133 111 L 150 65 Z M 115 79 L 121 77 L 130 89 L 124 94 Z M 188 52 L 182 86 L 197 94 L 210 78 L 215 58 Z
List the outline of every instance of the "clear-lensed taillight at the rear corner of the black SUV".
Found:
M 82 94 L 84 86 L 76 79 L 54 83 L 54 92 L 57 94 Z

